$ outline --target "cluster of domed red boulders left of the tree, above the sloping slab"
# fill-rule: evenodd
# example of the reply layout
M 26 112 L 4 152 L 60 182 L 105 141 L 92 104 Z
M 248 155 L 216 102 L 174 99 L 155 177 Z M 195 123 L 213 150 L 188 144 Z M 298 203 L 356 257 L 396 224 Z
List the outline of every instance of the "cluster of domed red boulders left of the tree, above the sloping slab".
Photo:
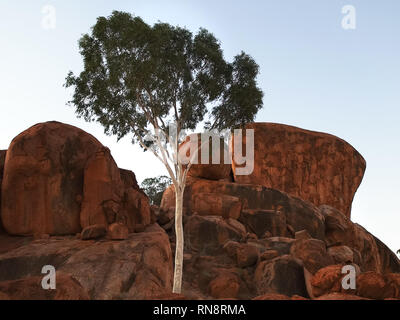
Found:
M 1 217 L 13 235 L 68 235 L 92 225 L 150 224 L 150 204 L 133 172 L 119 169 L 108 148 L 59 122 L 37 124 L 7 152 Z

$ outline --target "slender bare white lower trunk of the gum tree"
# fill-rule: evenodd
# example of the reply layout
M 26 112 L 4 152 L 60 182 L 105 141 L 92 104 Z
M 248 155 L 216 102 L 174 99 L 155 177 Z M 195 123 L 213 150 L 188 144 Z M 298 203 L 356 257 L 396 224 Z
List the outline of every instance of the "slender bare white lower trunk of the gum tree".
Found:
M 183 275 L 183 190 L 184 186 L 175 187 L 175 271 L 173 293 L 181 293 Z

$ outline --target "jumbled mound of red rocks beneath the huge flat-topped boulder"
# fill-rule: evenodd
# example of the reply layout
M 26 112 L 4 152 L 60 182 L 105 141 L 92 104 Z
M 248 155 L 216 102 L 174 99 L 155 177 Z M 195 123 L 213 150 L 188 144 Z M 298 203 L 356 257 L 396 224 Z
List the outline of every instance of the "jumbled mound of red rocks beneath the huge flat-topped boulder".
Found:
M 238 198 L 242 206 L 239 218 L 226 213 L 224 200 L 208 204 L 205 195 L 213 199 L 228 196 L 227 207 Z M 196 203 L 199 199 L 201 205 Z M 163 196 L 162 217 L 172 213 L 174 206 L 170 187 Z M 173 215 L 166 220 L 173 221 Z M 173 229 L 168 230 L 173 234 Z M 387 247 L 378 245 L 377 239 L 338 210 L 326 205 L 317 208 L 262 186 L 189 179 L 184 230 L 184 292 L 190 298 L 249 299 L 283 294 L 305 299 L 310 292 L 311 298 L 367 299 L 356 291 L 342 290 L 341 267 L 357 263 L 363 272 L 385 269 L 393 273 L 400 265 Z M 175 241 L 174 236 L 170 239 Z M 335 268 L 340 268 L 339 273 Z M 325 272 L 322 277 L 321 270 Z M 392 281 L 393 292 L 400 290 L 396 283 Z

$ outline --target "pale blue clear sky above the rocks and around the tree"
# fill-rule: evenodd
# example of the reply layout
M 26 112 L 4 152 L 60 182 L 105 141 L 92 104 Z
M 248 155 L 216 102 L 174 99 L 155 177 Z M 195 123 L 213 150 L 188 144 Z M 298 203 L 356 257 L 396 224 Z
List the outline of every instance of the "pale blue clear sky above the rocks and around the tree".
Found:
M 344 5 L 356 8 L 356 29 L 341 27 Z M 42 27 L 43 6 L 56 9 L 55 29 Z M 0 3 L 0 149 L 27 127 L 58 120 L 109 146 L 138 180 L 165 173 L 128 140 L 118 144 L 97 124 L 76 119 L 62 87 L 81 70 L 77 41 L 96 17 L 123 10 L 146 22 L 205 27 L 231 59 L 241 50 L 260 65 L 265 92 L 258 121 L 328 132 L 367 160 L 352 219 L 400 248 L 400 1 L 398 0 L 3 0 Z

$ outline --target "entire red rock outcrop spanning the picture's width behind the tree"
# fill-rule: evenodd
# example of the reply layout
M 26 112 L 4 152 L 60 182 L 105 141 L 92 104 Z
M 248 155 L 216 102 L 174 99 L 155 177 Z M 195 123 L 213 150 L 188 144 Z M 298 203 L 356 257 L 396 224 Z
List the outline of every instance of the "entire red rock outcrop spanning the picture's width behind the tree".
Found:
M 150 207 L 134 173 L 92 136 L 55 122 L 22 133 L 5 160 L 5 218 L 7 231 L 33 237 L 0 234 L 0 299 L 400 299 L 399 259 L 343 211 L 362 178 L 358 153 L 333 136 L 255 126 L 272 148 L 256 137 L 250 184 L 232 182 L 230 166 L 191 170 L 182 295 L 171 294 L 173 187 Z M 60 275 L 51 294 L 38 287 L 47 264 Z M 347 264 L 355 290 L 341 285 Z

